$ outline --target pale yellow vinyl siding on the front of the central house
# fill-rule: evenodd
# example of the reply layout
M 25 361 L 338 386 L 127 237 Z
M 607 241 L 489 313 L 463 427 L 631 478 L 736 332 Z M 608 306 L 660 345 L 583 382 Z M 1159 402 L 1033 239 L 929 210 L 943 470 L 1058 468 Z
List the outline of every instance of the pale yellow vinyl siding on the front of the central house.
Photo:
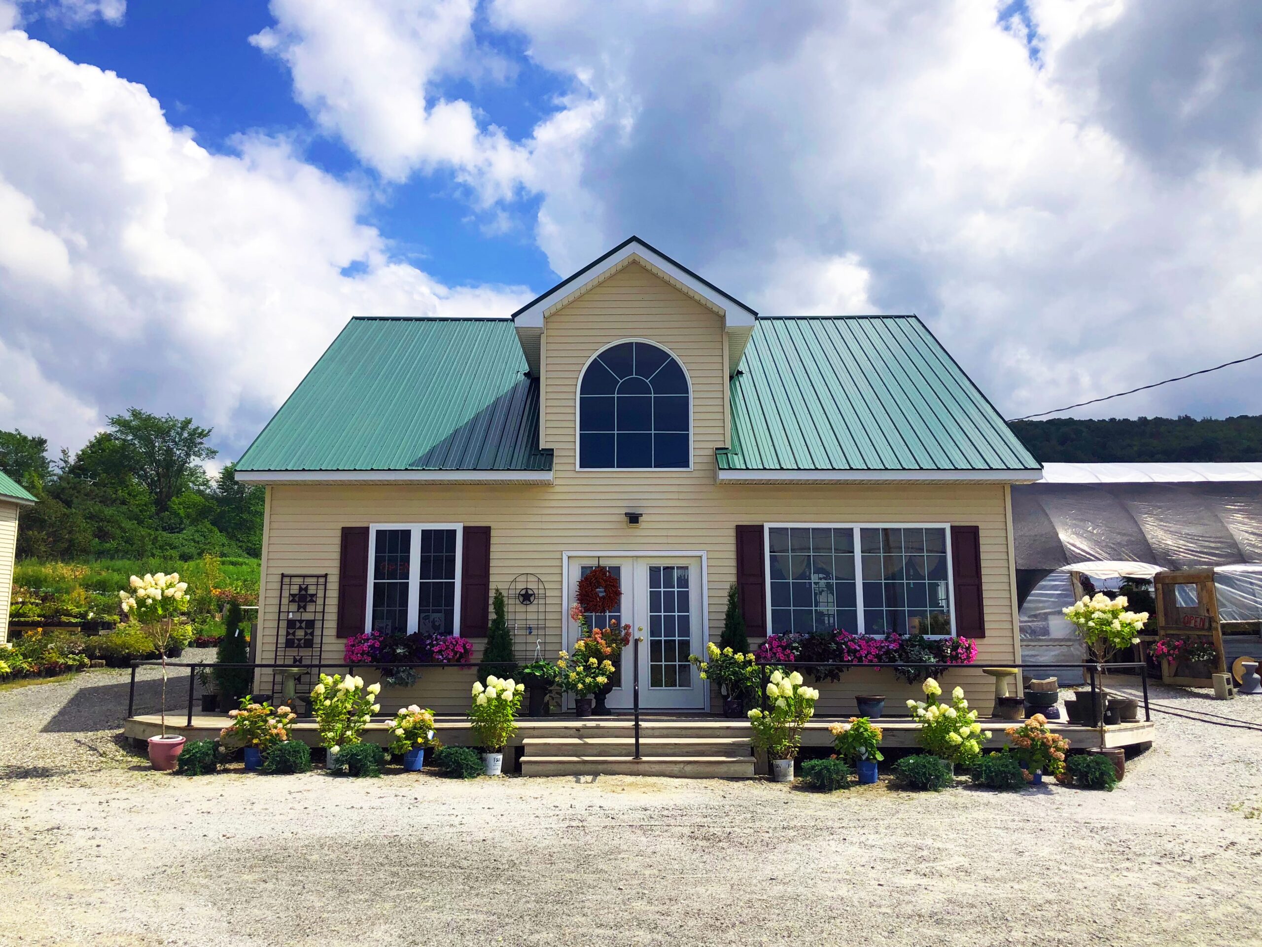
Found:
M 326 658 L 342 657 L 336 639 L 337 572 L 342 527 L 370 523 L 464 523 L 491 527 L 491 583 L 507 590 L 520 573 L 538 575 L 548 595 L 544 652 L 562 646 L 568 591 L 562 554 L 569 551 L 707 552 L 709 635 L 723 625 L 727 588 L 736 578 L 736 527 L 746 523 L 958 523 L 981 528 L 986 639 L 979 663 L 1016 659 L 1013 573 L 1007 487 L 993 484 L 757 485 L 714 481 L 714 448 L 726 444 L 726 343 L 722 318 L 639 265 L 630 265 L 546 317 L 543 384 L 544 446 L 555 451 L 548 485 L 274 485 L 269 487 L 259 660 L 270 660 L 275 596 L 281 573 L 329 575 Z M 575 471 L 578 375 L 602 346 L 647 338 L 670 348 L 693 386 L 693 470 Z M 628 528 L 623 513 L 639 510 Z M 371 595 L 371 590 L 370 590 Z M 529 660 L 534 639 L 519 638 Z M 424 701 L 463 710 L 472 670 L 427 672 L 410 694 L 389 693 L 386 710 Z M 993 693 L 979 670 L 952 672 L 970 700 Z M 822 713 L 852 712 L 856 693 L 885 693 L 901 702 L 911 689 L 890 672 L 848 672 L 822 688 Z M 713 703 L 713 701 L 712 701 Z

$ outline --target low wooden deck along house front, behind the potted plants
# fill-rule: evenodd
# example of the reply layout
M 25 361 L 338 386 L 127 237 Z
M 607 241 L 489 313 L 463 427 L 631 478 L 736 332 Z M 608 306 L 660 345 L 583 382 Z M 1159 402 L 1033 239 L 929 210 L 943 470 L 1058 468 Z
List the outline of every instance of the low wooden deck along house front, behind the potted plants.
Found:
M 828 746 L 833 737 L 828 732 L 829 725 L 848 717 L 815 717 L 806 725 L 803 736 L 804 746 Z M 920 729 L 909 717 L 881 717 L 875 721 L 885 731 L 883 746 L 902 749 L 916 745 L 916 731 Z M 979 720 L 983 730 L 991 731 L 987 747 L 998 749 L 1007 742 L 1003 734 L 1005 727 L 1015 726 L 1013 721 L 986 718 Z M 179 734 L 189 740 L 215 739 L 222 727 L 227 726 L 226 715 L 194 713 L 193 725 L 186 725 L 186 715 L 167 715 L 167 732 Z M 750 725 L 743 720 L 727 720 L 714 715 L 649 715 L 640 717 L 641 740 L 671 741 L 671 740 L 748 740 Z M 1049 721 L 1049 729 L 1069 740 L 1075 750 L 1095 747 L 1124 747 L 1151 744 L 1156 735 L 1156 725 L 1151 722 L 1117 724 L 1106 726 L 1103 736 L 1097 727 L 1084 727 L 1064 721 Z M 160 720 L 156 713 L 144 713 L 130 717 L 122 725 L 124 736 L 133 740 L 145 740 L 159 732 Z M 387 722 L 385 720 L 369 724 L 366 736 L 374 742 L 387 742 Z M 468 721 L 463 716 L 439 715 L 435 717 L 435 730 L 439 739 L 449 745 L 472 745 L 473 739 L 469 732 Z M 316 724 L 310 720 L 300 720 L 294 725 L 295 735 L 304 742 L 316 746 L 318 734 Z M 635 734 L 635 725 L 627 715 L 615 715 L 612 717 L 584 717 L 579 720 L 574 716 L 548 716 L 548 717 L 521 717 L 517 721 L 517 734 L 512 739 L 512 746 L 525 745 L 526 740 L 601 740 L 601 739 L 631 739 Z

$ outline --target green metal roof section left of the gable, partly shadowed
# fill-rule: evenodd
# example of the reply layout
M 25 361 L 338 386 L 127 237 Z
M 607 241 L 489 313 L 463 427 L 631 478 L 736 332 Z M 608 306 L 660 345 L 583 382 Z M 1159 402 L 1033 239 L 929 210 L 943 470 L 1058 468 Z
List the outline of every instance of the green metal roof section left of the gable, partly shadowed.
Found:
M 356 318 L 237 471 L 548 471 L 509 319 Z

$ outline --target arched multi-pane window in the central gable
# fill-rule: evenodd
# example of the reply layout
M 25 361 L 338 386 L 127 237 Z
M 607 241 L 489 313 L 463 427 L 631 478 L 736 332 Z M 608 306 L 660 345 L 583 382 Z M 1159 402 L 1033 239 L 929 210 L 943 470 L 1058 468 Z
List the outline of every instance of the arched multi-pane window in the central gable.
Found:
M 599 352 L 578 386 L 581 470 L 687 470 L 688 375 L 665 348 L 618 342 Z

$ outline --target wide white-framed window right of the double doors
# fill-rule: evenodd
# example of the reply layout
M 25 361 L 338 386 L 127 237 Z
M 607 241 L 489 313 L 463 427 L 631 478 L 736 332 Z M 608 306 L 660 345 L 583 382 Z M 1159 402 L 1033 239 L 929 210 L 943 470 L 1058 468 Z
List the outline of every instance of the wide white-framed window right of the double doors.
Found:
M 764 529 L 772 634 L 955 634 L 949 525 L 770 523 Z

